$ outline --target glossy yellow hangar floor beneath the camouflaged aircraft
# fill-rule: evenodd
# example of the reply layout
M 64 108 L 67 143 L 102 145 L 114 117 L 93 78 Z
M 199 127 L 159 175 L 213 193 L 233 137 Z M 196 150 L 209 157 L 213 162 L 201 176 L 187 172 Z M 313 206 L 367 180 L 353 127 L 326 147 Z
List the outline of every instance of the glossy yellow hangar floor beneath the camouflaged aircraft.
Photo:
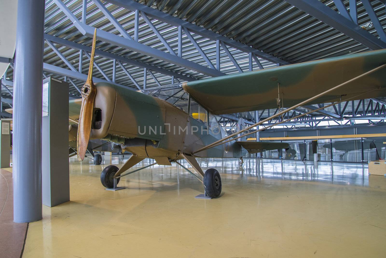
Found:
M 23 256 L 385 257 L 386 178 L 367 165 L 245 159 L 240 170 L 237 159 L 200 159 L 223 184 L 220 198 L 202 200 L 200 182 L 175 164 L 104 190 L 101 170 L 122 161 L 72 158 L 71 201 L 43 207 Z

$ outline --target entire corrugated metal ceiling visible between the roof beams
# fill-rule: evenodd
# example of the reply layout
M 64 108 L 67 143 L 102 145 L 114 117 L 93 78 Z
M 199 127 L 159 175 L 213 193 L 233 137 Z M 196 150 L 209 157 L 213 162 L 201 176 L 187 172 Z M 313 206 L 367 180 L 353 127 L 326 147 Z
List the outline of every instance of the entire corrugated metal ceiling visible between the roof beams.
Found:
M 102 1 L 103 2 L 103 1 Z M 343 54 L 357 53 L 369 50 L 362 44 L 345 36 L 329 25 L 315 19 L 284 0 L 139 0 L 137 1 L 165 13 L 195 23 L 211 31 L 240 41 L 265 53 L 281 58 L 290 63 L 310 61 L 314 59 L 339 56 Z M 332 0 L 322 0 L 332 9 L 336 10 Z M 344 1 L 349 6 L 349 0 Z M 384 4 L 373 0 L 372 6 L 381 22 L 386 27 L 386 16 Z M 63 0 L 63 3 L 81 19 L 82 0 Z M 364 26 L 370 22 L 361 2 L 358 2 L 358 22 Z M 134 37 L 134 12 L 103 2 L 105 7 L 113 14 L 124 29 Z M 177 28 L 169 24 L 151 19 L 163 37 L 168 41 L 171 48 L 177 52 Z M 165 46 L 151 31 L 146 22 L 139 20 L 139 42 L 153 48 L 167 52 Z M 98 7 L 91 1 L 87 2 L 86 23 L 99 29 L 120 35 L 111 22 L 102 14 Z M 377 33 L 374 26 L 367 28 L 374 36 Z M 63 14 L 52 0 L 46 0 L 45 33 L 60 37 L 69 41 L 91 46 L 91 39 L 83 36 L 74 27 L 72 22 Z M 208 58 L 215 64 L 215 42 L 205 37 L 193 34 Z M 59 51 L 73 64 L 74 68 L 79 67 L 79 51 L 54 44 Z M 195 79 L 203 79 L 208 76 L 198 72 L 167 63 L 140 53 L 135 53 L 111 44 L 97 41 L 97 48 L 113 54 L 141 61 L 160 68 L 164 68 Z M 229 48 L 234 58 L 243 71 L 248 71 L 248 55 L 240 50 Z M 221 71 L 231 74 L 237 73 L 237 69 L 224 51 L 220 52 Z M 188 38 L 183 36 L 183 58 L 190 61 L 207 65 L 198 51 Z M 275 64 L 259 59 L 262 65 L 267 68 Z M 104 73 L 112 80 L 113 61 L 97 56 L 95 61 Z M 68 66 L 59 58 L 47 44 L 44 46 L 44 62 L 68 69 Z M 128 64 L 124 65 L 127 71 L 135 78 L 139 85 L 143 84 L 143 68 Z M 254 69 L 258 69 L 257 65 Z M 83 55 L 83 73 L 88 70 L 88 59 Z M 104 78 L 98 69 L 94 69 L 95 76 Z M 50 74 L 47 74 L 50 76 Z M 163 85 L 171 82 L 170 76 L 154 73 L 157 80 Z M 63 80 L 63 77 L 53 75 Z M 13 70 L 10 68 L 7 77 L 12 80 Z M 135 88 L 134 83 L 128 78 L 124 71 L 117 65 L 116 83 Z M 82 81 L 74 80 L 76 85 L 81 86 Z M 147 75 L 147 87 L 157 86 L 156 82 Z M 12 88 L 10 89 L 12 91 Z M 70 93 L 79 95 L 74 87 L 70 87 Z M 3 95 L 9 95 L 2 89 Z

